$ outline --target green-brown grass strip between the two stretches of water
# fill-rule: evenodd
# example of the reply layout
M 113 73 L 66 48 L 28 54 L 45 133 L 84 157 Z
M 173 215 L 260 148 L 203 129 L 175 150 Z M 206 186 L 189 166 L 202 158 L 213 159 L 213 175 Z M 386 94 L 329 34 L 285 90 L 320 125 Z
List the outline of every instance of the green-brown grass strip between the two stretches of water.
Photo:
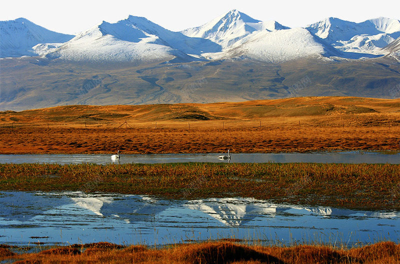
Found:
M 1 191 L 81 191 L 173 199 L 400 210 L 400 165 L 317 163 L 0 164 Z

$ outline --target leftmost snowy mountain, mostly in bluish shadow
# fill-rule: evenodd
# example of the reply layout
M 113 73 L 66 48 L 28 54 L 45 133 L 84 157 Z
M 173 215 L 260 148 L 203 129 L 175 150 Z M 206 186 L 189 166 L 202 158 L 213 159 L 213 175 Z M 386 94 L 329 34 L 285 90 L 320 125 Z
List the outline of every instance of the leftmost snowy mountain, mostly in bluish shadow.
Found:
M 63 43 L 73 37 L 48 30 L 25 18 L 0 21 L 0 36 L 0 57 L 34 56 L 37 53 L 33 46 L 39 43 Z

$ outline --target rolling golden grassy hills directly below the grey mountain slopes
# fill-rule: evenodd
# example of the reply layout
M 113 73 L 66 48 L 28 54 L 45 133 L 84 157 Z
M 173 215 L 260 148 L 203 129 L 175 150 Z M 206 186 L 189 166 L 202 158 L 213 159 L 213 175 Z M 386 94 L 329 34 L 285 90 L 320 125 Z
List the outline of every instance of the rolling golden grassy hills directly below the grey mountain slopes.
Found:
M 352 120 L 363 124 L 391 122 L 399 124 L 400 99 L 358 97 L 294 97 L 275 100 L 225 102 L 211 104 L 156 105 L 71 105 L 0 112 L 0 124 L 67 123 L 117 125 L 183 121 L 250 121 L 288 122 L 305 118 L 323 120 Z M 319 120 L 319 121 L 318 121 Z M 368 123 L 369 122 L 369 123 Z

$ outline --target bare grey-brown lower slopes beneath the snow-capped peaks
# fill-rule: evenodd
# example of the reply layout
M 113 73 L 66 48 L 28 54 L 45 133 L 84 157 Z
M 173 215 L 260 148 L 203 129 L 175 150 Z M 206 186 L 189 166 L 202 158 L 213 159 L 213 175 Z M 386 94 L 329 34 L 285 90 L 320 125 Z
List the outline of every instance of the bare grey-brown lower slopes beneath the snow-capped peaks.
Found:
M 297 96 L 397 98 L 391 57 L 280 64 L 251 59 L 174 63 L 81 63 L 2 59 L 0 111 L 59 105 L 214 103 Z

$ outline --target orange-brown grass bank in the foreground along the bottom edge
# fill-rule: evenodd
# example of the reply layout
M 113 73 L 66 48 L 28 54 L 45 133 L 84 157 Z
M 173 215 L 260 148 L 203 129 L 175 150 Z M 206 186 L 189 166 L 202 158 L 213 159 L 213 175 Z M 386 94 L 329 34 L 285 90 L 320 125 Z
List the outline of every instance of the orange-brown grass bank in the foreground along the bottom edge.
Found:
M 96 243 L 71 245 L 35 254 L 16 255 L 8 249 L 3 249 L 3 252 L 1 254 L 0 251 L 0 261 L 14 260 L 17 264 L 398 264 L 400 262 L 400 245 L 392 242 L 352 249 L 309 245 L 246 246 L 232 241 L 179 244 L 161 249 L 149 249 L 141 245 L 121 247 L 109 243 Z

